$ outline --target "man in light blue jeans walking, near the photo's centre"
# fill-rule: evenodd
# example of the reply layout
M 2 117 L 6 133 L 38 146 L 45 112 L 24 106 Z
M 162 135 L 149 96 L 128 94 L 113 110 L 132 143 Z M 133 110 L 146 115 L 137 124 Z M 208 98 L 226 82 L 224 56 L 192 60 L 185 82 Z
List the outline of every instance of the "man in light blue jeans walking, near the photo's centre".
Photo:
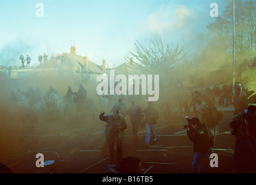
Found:
M 142 116 L 146 116 L 145 146 L 149 147 L 150 132 L 153 134 L 153 142 L 156 143 L 156 120 L 159 118 L 159 113 L 153 108 L 153 102 L 147 103 L 147 108 L 143 110 Z

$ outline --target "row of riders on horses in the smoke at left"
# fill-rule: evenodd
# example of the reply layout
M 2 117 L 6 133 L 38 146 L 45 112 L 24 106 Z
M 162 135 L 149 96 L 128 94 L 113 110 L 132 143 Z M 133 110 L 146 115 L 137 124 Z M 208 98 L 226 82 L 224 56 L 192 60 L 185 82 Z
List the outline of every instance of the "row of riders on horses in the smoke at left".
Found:
M 55 92 L 55 94 L 59 97 L 55 101 L 50 101 L 49 99 L 50 95 L 52 95 L 52 92 Z M 93 102 L 87 97 L 87 90 L 82 84 L 80 84 L 77 92 L 73 92 L 71 86 L 68 86 L 67 92 L 63 97 L 60 97 L 59 94 L 57 94 L 55 88 L 53 88 L 52 86 L 50 86 L 46 92 L 42 92 L 39 87 L 36 87 L 35 90 L 33 87 L 28 87 L 26 91 L 21 91 L 18 88 L 16 92 L 12 90 L 9 92 L 8 95 L 9 105 L 28 106 L 28 108 L 35 112 L 37 109 L 41 109 L 40 112 L 45 110 L 45 113 L 52 112 L 52 109 L 56 109 L 57 112 L 59 109 L 59 107 L 56 105 L 57 100 L 63 102 L 62 108 L 64 107 L 64 115 L 68 115 L 70 112 L 72 112 L 72 108 L 75 108 L 77 112 L 85 110 L 86 105 L 89 103 L 91 108 L 93 107 Z M 41 107 L 38 107 L 38 103 L 39 105 L 41 105 Z M 45 106 L 45 109 L 42 106 Z M 53 115 L 56 112 L 52 112 L 52 116 L 56 117 L 57 115 Z M 46 114 L 40 114 L 38 116 L 45 115 Z M 43 117 L 43 119 L 46 118 Z

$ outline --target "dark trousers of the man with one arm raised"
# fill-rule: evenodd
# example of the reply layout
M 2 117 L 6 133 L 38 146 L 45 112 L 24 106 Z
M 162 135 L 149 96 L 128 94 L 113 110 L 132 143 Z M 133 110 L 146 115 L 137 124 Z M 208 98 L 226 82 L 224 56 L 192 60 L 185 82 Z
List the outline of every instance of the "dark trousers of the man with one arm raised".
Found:
M 122 136 L 118 135 L 106 136 L 107 143 L 109 144 L 109 156 L 111 162 L 114 162 L 114 144 L 117 145 L 117 162 L 120 162 L 122 159 Z

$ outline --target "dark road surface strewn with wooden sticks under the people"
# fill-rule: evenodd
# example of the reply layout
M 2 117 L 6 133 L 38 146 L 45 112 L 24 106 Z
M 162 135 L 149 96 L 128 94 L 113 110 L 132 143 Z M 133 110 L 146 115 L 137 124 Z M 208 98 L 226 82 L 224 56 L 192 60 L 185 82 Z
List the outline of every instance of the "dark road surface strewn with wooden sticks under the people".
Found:
M 229 134 L 232 107 L 220 108 L 224 117 L 219 123 L 215 153 L 218 154 L 218 168 L 211 168 L 208 158 L 201 165 L 203 173 L 230 173 L 232 170 L 235 136 Z M 193 115 L 192 115 L 193 116 Z M 193 143 L 183 131 L 186 119 L 178 114 L 172 120 L 159 119 L 157 144 L 144 148 L 145 128 L 139 128 L 138 144 L 132 142 L 131 123 L 123 140 L 123 157 L 138 156 L 146 173 L 192 173 Z M 12 147 L 0 153 L 0 162 L 8 165 L 13 173 L 104 173 L 109 164 L 108 151 L 101 151 L 104 145 L 105 123 L 100 120 L 77 125 L 71 121 L 38 123 L 33 132 L 16 136 Z M 37 153 L 44 154 L 44 160 L 55 160 L 52 165 L 37 168 Z

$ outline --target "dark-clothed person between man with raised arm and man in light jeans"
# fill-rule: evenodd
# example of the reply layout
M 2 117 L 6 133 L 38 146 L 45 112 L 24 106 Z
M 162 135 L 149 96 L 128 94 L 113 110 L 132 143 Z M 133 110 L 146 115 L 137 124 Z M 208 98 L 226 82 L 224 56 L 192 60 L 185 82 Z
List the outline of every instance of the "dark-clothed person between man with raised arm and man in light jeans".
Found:
M 135 101 L 131 102 L 131 106 L 127 110 L 127 116 L 130 116 L 132 123 L 132 133 L 134 134 L 134 142 L 138 141 L 138 129 L 140 121 L 142 121 L 142 108 L 135 104 Z

